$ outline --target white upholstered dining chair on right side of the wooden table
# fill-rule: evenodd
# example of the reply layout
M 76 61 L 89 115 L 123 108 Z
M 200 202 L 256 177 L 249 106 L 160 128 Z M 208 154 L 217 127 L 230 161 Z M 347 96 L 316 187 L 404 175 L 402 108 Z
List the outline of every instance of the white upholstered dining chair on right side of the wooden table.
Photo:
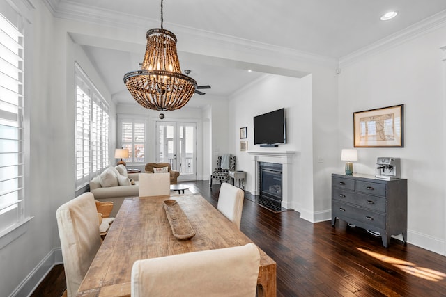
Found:
M 245 192 L 225 182 L 220 187 L 217 209 L 240 229 Z

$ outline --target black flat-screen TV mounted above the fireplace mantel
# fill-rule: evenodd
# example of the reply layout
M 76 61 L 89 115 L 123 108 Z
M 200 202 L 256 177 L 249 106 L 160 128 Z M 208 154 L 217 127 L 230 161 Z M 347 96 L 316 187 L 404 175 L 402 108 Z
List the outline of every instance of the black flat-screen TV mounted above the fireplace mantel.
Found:
M 254 117 L 254 145 L 277 147 L 286 143 L 285 109 L 277 109 Z

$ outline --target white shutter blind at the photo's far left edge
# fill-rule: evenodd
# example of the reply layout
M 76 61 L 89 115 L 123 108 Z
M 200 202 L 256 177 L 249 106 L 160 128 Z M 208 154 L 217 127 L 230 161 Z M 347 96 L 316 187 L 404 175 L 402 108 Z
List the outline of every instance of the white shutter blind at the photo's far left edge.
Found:
M 0 14 L 0 236 L 24 220 L 22 31 Z

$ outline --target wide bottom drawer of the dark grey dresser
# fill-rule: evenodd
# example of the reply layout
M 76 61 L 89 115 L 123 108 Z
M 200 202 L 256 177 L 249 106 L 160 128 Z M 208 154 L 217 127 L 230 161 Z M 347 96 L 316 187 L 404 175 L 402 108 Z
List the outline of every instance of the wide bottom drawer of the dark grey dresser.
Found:
M 347 222 L 348 218 L 351 218 L 357 222 L 364 223 L 364 225 L 371 225 L 380 229 L 385 229 L 385 214 L 353 207 L 338 202 L 337 200 L 332 200 L 332 209 L 334 210 L 334 214 L 339 214 L 339 216 L 337 216 L 338 218 L 346 220 Z

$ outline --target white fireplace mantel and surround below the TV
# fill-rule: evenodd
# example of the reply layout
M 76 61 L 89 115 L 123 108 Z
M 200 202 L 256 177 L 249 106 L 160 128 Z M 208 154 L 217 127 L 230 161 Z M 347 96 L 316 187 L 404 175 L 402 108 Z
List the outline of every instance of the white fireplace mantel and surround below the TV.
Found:
M 291 191 L 293 184 L 292 163 L 295 151 L 262 150 L 247 151 L 251 156 L 252 168 L 254 170 L 254 188 L 252 193 L 259 195 L 259 162 L 282 164 L 282 207 L 291 208 Z

